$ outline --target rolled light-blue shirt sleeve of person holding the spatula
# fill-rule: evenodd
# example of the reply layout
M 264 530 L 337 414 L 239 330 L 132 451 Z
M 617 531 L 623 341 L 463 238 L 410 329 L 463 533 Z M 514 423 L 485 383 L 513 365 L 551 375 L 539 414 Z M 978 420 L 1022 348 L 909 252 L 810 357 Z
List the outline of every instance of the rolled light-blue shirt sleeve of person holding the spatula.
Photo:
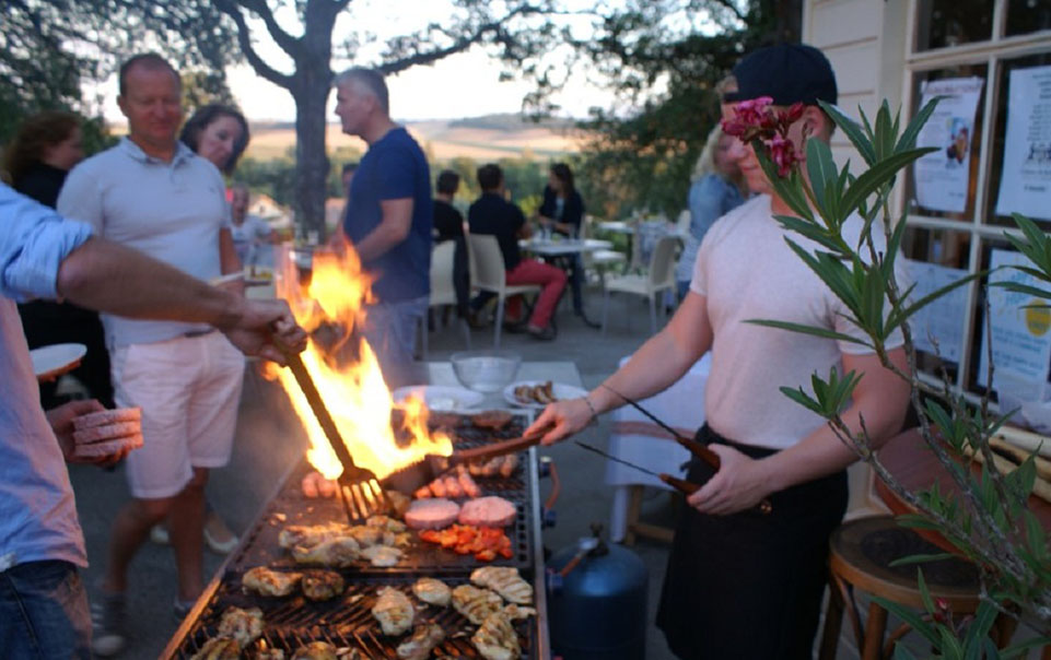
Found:
M 0 294 L 23 302 L 55 298 L 58 267 L 92 228 L 0 184 Z

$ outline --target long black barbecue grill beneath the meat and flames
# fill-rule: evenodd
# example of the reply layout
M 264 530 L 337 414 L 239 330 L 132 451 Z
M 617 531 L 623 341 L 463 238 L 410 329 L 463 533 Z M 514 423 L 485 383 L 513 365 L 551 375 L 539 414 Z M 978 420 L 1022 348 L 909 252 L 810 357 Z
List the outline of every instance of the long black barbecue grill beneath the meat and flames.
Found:
M 526 420 L 517 416 L 498 432 L 480 429 L 465 417 L 454 428 L 456 448 L 467 448 L 519 435 Z M 339 569 L 348 584 L 342 597 L 327 602 L 313 602 L 300 594 L 268 598 L 244 593 L 242 575 L 255 566 L 276 570 L 299 568 L 278 545 L 278 534 L 288 525 L 317 525 L 343 520 L 342 506 L 335 498 L 307 499 L 300 491 L 302 476 L 311 469 L 305 460 L 293 465 L 281 480 L 275 495 L 262 506 L 256 520 L 238 547 L 208 585 L 197 604 L 176 630 L 162 658 L 191 658 L 205 643 L 217 636 L 219 621 L 229 606 L 259 608 L 264 613 L 265 633 L 255 648 L 280 648 L 291 658 L 294 650 L 310 641 L 322 640 L 337 648 L 357 648 L 366 658 L 395 658 L 395 649 L 402 637 L 386 637 L 372 616 L 376 591 L 395 587 L 408 592 L 412 582 L 430 576 L 449 586 L 468 581 L 470 571 L 479 566 L 514 566 L 534 586 L 536 616 L 515 622 L 522 646 L 522 658 L 550 657 L 547 639 L 547 603 L 544 585 L 544 553 L 540 545 L 540 511 L 535 448 L 522 452 L 518 467 L 509 478 L 476 476 L 486 495 L 500 495 L 512 502 L 517 516 L 513 526 L 505 528 L 514 556 L 480 562 L 471 555 L 459 555 L 432 543 L 417 540 L 405 549 L 396 566 L 379 568 L 363 563 Z M 416 599 L 413 604 L 418 603 Z M 452 608 L 418 606 L 417 622 L 435 622 L 447 636 L 434 649 L 437 656 L 479 658 L 470 641 L 476 629 Z

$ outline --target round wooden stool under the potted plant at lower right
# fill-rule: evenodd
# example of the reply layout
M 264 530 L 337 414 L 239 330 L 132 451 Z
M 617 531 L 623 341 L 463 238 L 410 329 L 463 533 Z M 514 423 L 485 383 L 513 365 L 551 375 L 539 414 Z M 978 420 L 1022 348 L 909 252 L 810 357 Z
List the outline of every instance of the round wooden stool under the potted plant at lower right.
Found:
M 854 639 L 862 660 L 889 658 L 894 646 L 911 627 L 899 626 L 884 646 L 887 611 L 873 601 L 868 618 L 863 623 L 854 603 L 854 589 L 923 610 L 916 569 L 923 569 L 931 598 L 948 602 L 954 615 L 970 614 L 978 609 L 978 569 L 964 559 L 950 558 L 923 564 L 890 567 L 901 557 L 943 552 L 921 539 L 915 532 L 900 527 L 890 516 L 860 518 L 840 526 L 829 540 L 829 604 L 825 614 L 819 660 L 836 658 L 843 611 L 854 629 Z M 1013 620 L 997 618 L 992 637 L 1002 647 L 1014 633 Z

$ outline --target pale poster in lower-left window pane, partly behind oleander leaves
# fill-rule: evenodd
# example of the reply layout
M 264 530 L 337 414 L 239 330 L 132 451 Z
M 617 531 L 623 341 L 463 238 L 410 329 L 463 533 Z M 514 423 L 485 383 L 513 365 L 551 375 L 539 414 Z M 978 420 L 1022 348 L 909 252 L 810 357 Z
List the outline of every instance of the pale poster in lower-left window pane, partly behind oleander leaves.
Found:
M 907 272 L 915 288 L 909 296 L 915 302 L 943 286 L 966 278 L 969 273 L 958 268 L 906 259 Z M 938 354 L 942 360 L 959 364 L 964 352 L 964 318 L 967 313 L 967 286 L 949 293 L 921 308 L 909 319 L 912 342 L 918 351 Z M 937 351 L 935 351 L 935 345 Z

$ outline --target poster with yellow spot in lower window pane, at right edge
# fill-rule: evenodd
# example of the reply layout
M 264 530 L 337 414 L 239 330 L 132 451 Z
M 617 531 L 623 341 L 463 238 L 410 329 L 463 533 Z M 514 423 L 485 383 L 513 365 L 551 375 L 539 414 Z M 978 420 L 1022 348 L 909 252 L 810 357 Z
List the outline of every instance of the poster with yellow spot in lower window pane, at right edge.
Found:
M 1027 266 L 1029 260 L 1019 252 L 994 249 L 990 267 Z M 1038 288 L 1047 288 L 1039 280 L 1019 270 L 1005 268 L 990 274 L 990 282 L 1014 281 Z M 993 338 L 993 389 L 1000 389 L 1001 376 L 1012 381 L 1025 381 L 1038 387 L 1048 380 L 1051 365 L 1051 309 L 1028 308 L 1026 305 L 1047 304 L 1029 294 L 1015 293 L 1000 286 L 989 287 L 989 316 L 982 328 L 982 350 L 978 365 L 978 382 L 985 385 L 990 332 Z M 1039 397 L 1037 397 L 1039 399 Z

